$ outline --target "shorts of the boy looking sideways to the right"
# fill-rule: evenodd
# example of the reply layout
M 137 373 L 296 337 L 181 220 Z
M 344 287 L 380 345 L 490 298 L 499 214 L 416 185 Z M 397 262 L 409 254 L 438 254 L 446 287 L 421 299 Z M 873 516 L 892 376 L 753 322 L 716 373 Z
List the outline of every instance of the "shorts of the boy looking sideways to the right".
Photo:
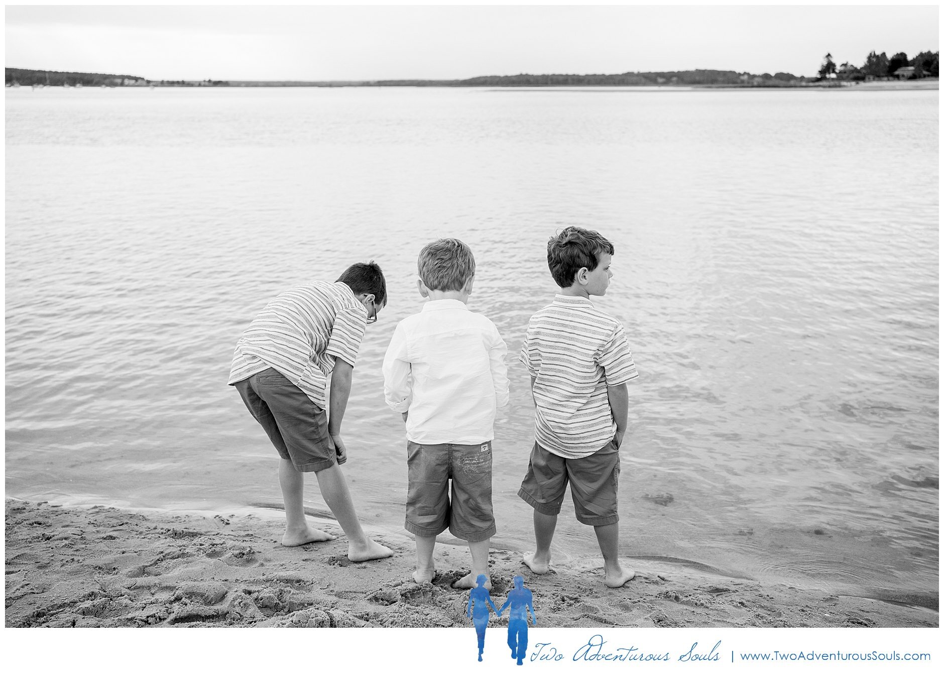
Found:
M 598 452 L 582 458 L 561 457 L 535 442 L 518 496 L 538 512 L 557 515 L 561 512 L 567 482 L 570 482 L 577 521 L 605 526 L 619 521 L 616 514 L 618 479 L 619 449 L 615 439 Z

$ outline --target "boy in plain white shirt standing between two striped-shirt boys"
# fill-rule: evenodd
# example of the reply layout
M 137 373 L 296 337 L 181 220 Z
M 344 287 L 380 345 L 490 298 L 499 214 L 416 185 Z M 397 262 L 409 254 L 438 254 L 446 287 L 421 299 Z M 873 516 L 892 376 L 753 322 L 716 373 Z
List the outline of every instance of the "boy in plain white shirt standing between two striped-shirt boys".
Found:
M 454 584 L 472 589 L 488 576 L 492 514 L 492 424 L 508 404 L 508 351 L 495 325 L 470 312 L 475 258 L 463 242 L 442 239 L 419 252 L 421 313 L 396 326 L 383 359 L 387 404 L 407 428 L 406 528 L 416 538 L 417 583 L 435 576 L 432 551 L 446 530 L 468 541 L 472 571 Z M 449 480 L 452 497 L 449 500 Z M 491 581 L 485 582 L 485 589 Z

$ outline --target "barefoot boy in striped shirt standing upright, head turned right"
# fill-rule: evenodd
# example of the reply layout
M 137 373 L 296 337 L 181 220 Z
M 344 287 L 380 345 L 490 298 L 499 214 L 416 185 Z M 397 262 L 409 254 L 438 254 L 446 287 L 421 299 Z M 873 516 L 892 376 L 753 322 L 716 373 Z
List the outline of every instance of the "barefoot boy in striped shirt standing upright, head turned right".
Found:
M 550 565 L 550 542 L 570 482 L 577 520 L 592 525 L 604 582 L 619 588 L 634 572 L 619 564 L 616 481 L 626 434 L 626 383 L 638 373 L 613 316 L 593 307 L 613 277 L 614 248 L 598 232 L 565 228 L 548 240 L 548 267 L 561 293 L 531 316 L 521 361 L 531 373 L 534 447 L 518 495 L 534 508 L 531 572 Z

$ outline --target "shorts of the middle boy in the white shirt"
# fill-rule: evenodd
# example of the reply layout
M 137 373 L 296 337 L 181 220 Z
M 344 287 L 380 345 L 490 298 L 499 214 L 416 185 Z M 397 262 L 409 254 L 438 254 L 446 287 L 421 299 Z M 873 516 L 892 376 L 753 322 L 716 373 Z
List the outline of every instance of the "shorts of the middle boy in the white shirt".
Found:
M 472 542 L 495 536 L 491 441 L 474 446 L 407 441 L 407 481 L 407 531 L 429 537 L 448 529 Z

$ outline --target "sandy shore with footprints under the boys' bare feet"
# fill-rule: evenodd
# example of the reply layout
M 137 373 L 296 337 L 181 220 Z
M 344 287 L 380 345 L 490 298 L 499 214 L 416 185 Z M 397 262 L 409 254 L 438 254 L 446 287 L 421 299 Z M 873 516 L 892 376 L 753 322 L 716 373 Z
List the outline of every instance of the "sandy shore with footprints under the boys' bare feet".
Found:
M 280 513 L 197 515 L 6 501 L 8 627 L 468 626 L 462 575 L 467 550 L 437 544 L 431 585 L 410 579 L 413 543 L 383 536 L 396 552 L 352 563 L 329 520 L 312 526 L 337 540 L 281 546 Z M 535 576 L 520 555 L 491 554 L 496 601 L 524 576 L 550 627 L 936 626 L 935 609 L 835 595 L 699 572 L 633 558 L 622 589 L 602 583 L 601 561 Z M 500 603 L 498 603 L 500 605 Z M 507 615 L 501 618 L 501 622 Z

